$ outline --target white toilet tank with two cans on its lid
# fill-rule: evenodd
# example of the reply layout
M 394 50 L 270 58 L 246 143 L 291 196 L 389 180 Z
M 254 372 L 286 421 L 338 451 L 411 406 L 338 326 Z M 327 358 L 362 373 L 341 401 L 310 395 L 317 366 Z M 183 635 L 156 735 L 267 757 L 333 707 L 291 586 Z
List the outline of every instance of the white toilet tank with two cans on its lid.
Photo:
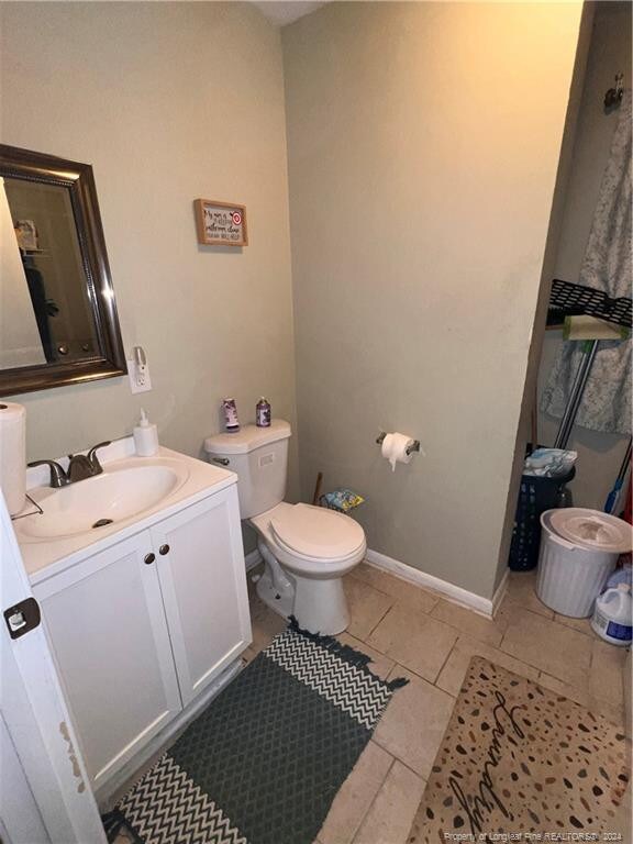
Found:
M 204 440 L 209 462 L 221 460 L 237 475 L 242 519 L 265 513 L 284 501 L 291 433 L 288 422 L 274 419 L 269 427 L 245 425 L 235 434 L 215 434 Z

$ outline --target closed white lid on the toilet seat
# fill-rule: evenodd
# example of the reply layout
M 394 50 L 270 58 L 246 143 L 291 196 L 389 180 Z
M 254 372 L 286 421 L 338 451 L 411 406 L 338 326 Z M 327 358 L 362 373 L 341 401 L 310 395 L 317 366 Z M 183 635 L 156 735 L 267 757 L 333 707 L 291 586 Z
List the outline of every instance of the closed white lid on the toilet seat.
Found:
M 365 542 L 363 528 L 348 515 L 310 504 L 285 509 L 270 520 L 270 529 L 284 545 L 306 557 L 347 557 Z

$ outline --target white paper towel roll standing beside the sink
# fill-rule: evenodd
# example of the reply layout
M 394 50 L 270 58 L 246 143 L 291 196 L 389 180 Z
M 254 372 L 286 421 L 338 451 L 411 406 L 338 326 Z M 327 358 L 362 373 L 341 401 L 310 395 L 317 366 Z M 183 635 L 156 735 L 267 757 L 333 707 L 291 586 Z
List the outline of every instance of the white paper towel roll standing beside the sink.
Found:
M 0 487 L 11 515 L 24 507 L 26 493 L 26 411 L 0 401 Z

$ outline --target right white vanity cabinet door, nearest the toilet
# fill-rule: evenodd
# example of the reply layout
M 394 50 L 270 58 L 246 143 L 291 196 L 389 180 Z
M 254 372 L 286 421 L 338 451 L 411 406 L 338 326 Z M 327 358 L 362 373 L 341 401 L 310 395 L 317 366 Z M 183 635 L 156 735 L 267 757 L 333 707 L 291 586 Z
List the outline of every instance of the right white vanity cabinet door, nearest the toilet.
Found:
M 151 528 L 187 706 L 251 643 L 237 492 L 216 492 Z

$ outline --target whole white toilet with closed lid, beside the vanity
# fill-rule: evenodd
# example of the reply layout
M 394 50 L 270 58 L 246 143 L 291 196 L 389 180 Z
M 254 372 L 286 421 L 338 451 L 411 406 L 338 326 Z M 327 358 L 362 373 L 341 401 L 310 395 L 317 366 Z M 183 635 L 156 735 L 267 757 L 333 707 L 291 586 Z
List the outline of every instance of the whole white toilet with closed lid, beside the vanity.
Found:
M 265 562 L 262 600 L 311 633 L 333 635 L 349 623 L 342 577 L 365 556 L 365 532 L 343 513 L 284 501 L 291 433 L 276 419 L 210 436 L 204 451 L 238 477 L 240 512 L 257 531 Z

